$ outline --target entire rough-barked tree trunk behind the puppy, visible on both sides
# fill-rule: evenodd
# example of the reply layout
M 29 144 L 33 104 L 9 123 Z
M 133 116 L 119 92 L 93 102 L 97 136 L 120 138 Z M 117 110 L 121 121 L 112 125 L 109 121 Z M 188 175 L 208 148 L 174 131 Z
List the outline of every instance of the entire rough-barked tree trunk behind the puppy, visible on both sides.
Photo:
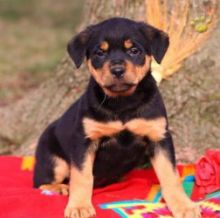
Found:
M 87 0 L 79 29 L 112 16 L 145 20 L 144 1 Z M 206 147 L 219 147 L 219 39 L 220 25 L 205 48 L 160 87 L 177 151 L 186 154 L 181 160 L 194 161 Z M 13 153 L 33 154 L 40 133 L 81 95 L 88 76 L 85 66 L 76 70 L 66 55 L 52 78 L 19 102 L 1 108 L 0 144 L 5 145 L 4 152 L 17 148 Z

